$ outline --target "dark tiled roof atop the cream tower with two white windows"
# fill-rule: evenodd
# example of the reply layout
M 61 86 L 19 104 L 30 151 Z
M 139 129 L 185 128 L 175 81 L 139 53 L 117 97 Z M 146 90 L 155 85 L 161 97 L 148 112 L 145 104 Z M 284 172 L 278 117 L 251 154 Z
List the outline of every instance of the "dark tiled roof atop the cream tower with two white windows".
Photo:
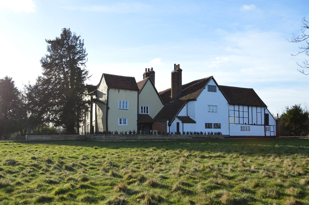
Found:
M 108 88 L 139 90 L 134 77 L 116 76 L 103 73 Z

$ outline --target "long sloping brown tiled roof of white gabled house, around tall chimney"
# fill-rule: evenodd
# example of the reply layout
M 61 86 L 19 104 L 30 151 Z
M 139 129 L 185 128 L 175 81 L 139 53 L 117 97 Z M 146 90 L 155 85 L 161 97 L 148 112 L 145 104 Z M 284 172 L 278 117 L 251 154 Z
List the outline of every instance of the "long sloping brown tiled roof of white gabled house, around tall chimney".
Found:
M 155 117 L 155 121 L 172 121 L 180 110 L 184 107 L 187 101 L 195 100 L 203 91 L 212 76 L 195 80 L 191 83 L 182 85 L 180 96 L 171 102 L 171 88 L 159 92 L 164 104 L 164 108 Z

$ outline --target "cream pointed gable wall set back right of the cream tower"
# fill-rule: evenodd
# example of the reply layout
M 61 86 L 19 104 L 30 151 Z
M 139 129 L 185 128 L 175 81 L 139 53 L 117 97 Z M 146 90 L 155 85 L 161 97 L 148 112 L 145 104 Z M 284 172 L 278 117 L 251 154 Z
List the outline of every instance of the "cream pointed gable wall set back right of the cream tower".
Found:
M 149 116 L 152 118 L 163 108 L 163 104 L 149 80 L 139 94 L 138 106 L 138 113 L 141 113 L 141 106 L 149 106 Z

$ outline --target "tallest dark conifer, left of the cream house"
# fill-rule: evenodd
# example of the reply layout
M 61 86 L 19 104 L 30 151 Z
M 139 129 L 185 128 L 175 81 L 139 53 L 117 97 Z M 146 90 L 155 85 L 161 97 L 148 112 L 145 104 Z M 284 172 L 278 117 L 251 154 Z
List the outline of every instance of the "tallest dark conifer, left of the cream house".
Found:
M 40 60 L 42 76 L 26 86 L 29 121 L 32 126 L 52 123 L 73 134 L 87 103 L 83 100 L 89 77 L 84 40 L 63 28 L 60 37 L 45 41 L 48 54 Z

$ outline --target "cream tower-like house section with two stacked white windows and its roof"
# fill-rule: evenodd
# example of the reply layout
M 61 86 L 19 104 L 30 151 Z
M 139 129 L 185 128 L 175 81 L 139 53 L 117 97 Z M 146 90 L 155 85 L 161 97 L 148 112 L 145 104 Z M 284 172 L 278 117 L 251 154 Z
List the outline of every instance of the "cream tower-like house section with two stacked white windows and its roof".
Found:
M 134 77 L 104 73 L 96 91 L 96 131 L 136 130 L 138 91 Z

